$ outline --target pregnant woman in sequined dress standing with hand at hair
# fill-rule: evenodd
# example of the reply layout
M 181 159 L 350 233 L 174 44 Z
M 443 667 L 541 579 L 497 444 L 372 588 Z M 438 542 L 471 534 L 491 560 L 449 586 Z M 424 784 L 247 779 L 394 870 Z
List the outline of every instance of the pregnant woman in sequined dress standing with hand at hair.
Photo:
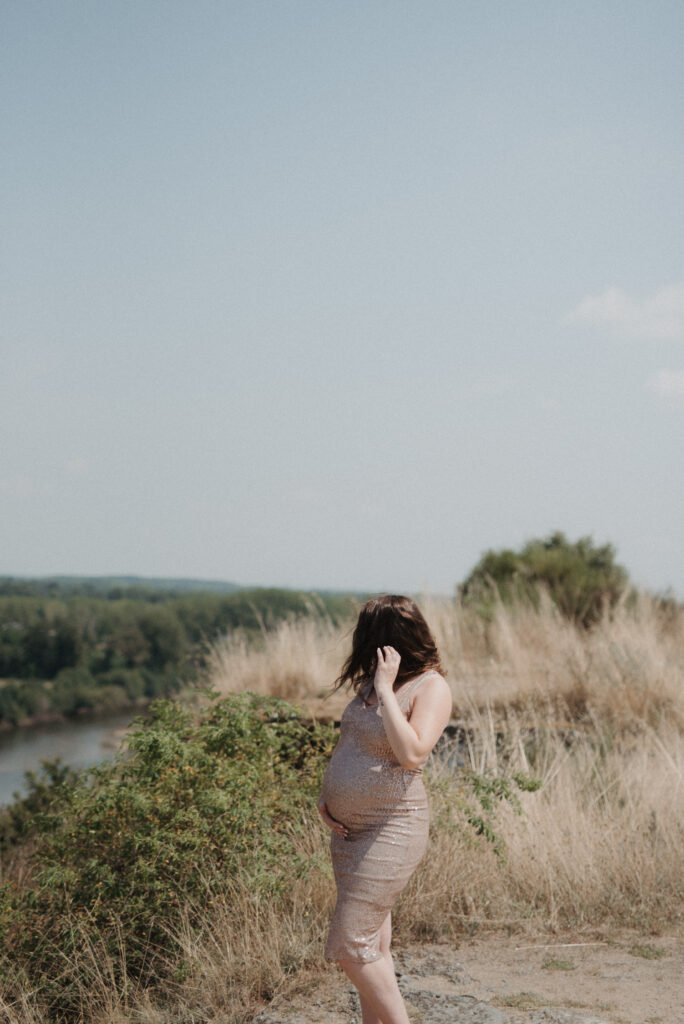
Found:
M 417 604 L 369 601 L 335 689 L 355 696 L 323 781 L 337 905 L 326 956 L 358 990 L 364 1024 L 409 1024 L 389 951 L 392 904 L 427 846 L 422 770 L 452 713 L 437 647 Z

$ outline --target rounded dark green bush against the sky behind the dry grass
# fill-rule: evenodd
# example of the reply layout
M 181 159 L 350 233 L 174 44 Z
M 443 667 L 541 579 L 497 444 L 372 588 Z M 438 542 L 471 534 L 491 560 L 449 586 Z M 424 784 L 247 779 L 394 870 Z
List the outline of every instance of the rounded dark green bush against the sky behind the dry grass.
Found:
M 610 544 L 595 547 L 591 537 L 572 544 L 557 530 L 545 540 L 528 541 L 519 552 L 486 551 L 458 593 L 490 617 L 497 597 L 538 606 L 539 590 L 546 588 L 564 615 L 590 627 L 628 587 L 627 570 L 614 557 Z

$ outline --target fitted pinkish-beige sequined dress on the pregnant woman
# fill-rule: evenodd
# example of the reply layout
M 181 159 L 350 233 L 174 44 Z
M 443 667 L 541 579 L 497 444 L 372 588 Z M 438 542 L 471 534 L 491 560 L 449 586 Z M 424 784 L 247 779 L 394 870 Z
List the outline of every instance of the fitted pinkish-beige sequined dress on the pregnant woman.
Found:
M 395 691 L 407 718 L 411 697 L 433 671 Z M 369 687 L 362 692 L 368 696 Z M 320 790 L 328 812 L 348 829 L 346 839 L 331 833 L 337 904 L 326 943 L 328 959 L 370 963 L 382 955 L 382 924 L 427 847 L 429 808 L 422 773 L 422 766 L 400 766 L 378 705 L 367 706 L 356 694 L 342 715 L 340 740 Z

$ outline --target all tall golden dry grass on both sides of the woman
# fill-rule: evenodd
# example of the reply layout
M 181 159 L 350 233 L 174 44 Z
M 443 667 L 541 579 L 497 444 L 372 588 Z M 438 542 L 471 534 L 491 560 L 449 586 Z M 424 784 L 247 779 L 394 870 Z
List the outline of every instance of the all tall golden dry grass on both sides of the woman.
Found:
M 453 936 L 474 927 L 583 931 L 679 928 L 684 904 L 684 611 L 664 613 L 642 595 L 592 631 L 562 618 L 542 595 L 538 610 L 469 609 L 423 598 L 478 772 L 523 769 L 543 780 L 504 804 L 496 828 L 505 860 L 467 826 L 442 827 L 450 807 L 431 786 L 427 855 L 393 914 L 395 936 Z M 353 623 L 308 617 L 282 624 L 250 647 L 241 634 L 213 650 L 220 693 L 269 692 L 338 717 L 348 695 L 325 694 L 339 672 Z M 436 779 L 446 769 L 433 758 Z M 458 776 L 457 776 L 458 784 Z M 114 993 L 92 951 L 84 1020 L 245 1022 L 259 1001 L 326 970 L 322 950 L 334 903 L 329 835 L 316 817 L 296 841 L 314 869 L 293 884 L 287 906 L 264 905 L 240 879 L 217 894 L 198 933 L 181 926 L 185 972 L 169 993 Z M 84 955 L 90 955 L 87 950 Z M 97 974 L 96 972 L 99 972 Z M 0 1005 L 1 1007 L 1 1005 Z M 11 1024 L 41 1024 L 33 1004 L 4 1007 Z

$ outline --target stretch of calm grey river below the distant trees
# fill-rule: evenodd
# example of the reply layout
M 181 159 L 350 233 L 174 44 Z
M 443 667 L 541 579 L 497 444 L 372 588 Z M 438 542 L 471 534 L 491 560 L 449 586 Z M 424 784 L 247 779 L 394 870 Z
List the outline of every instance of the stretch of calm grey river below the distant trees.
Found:
M 118 712 L 97 718 L 26 726 L 0 733 L 0 806 L 10 804 L 16 791 L 27 792 L 25 771 L 38 771 L 41 760 L 61 758 L 74 768 L 114 757 L 121 732 L 140 712 Z

